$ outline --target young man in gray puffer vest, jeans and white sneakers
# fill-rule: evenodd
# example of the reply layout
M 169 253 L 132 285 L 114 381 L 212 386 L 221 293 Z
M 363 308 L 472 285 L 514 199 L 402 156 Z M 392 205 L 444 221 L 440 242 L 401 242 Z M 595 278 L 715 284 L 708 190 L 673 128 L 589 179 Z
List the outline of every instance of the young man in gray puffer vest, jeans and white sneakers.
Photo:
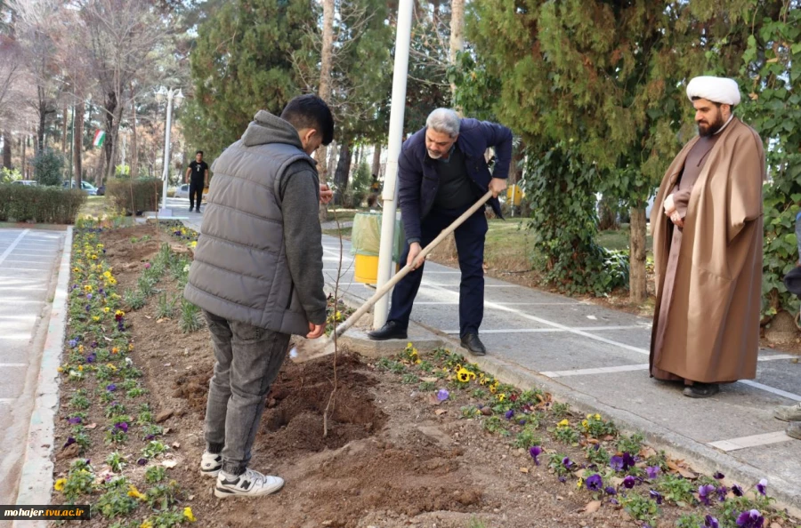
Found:
M 322 189 L 311 155 L 333 138 L 328 105 L 303 95 L 280 118 L 257 113 L 214 161 L 183 295 L 203 309 L 214 346 L 200 472 L 216 477 L 217 497 L 266 495 L 284 485 L 247 464 L 290 336 L 317 339 L 325 331 Z

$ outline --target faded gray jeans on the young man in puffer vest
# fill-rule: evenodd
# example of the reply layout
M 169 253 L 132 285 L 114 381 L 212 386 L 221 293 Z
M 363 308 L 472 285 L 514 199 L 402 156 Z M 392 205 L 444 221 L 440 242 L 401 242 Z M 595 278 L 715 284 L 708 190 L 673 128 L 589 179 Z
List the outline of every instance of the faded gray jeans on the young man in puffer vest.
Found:
M 223 471 L 239 475 L 250 461 L 264 396 L 284 363 L 290 336 L 203 314 L 216 360 L 206 404 L 206 444 L 223 446 Z

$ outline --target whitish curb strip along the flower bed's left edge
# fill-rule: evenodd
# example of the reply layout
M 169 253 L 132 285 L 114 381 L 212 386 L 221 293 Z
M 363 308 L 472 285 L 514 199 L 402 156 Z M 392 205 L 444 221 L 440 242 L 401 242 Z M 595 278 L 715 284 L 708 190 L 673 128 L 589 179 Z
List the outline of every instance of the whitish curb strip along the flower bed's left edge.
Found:
M 72 256 L 72 226 L 64 236 L 58 281 L 53 295 L 53 307 L 44 340 L 42 364 L 36 386 L 36 403 L 30 417 L 28 443 L 22 464 L 18 505 L 50 504 L 53 494 L 53 431 L 59 405 L 59 372 L 64 337 L 67 332 L 67 294 L 69 288 L 69 262 Z M 24 523 L 24 524 L 23 524 Z M 20 521 L 12 524 L 44 527 L 46 521 Z

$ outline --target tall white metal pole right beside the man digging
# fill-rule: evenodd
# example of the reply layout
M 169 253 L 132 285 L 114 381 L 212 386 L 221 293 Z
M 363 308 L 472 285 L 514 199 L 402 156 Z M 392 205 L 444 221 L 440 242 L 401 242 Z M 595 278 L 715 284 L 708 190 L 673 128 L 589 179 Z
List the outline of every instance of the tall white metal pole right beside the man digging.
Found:
M 378 251 L 378 276 L 376 286 L 380 288 L 392 276 L 392 242 L 395 235 L 395 211 L 397 210 L 398 157 L 403 142 L 403 114 L 406 109 L 406 81 L 409 76 L 409 44 L 411 42 L 412 0 L 401 0 L 398 5 L 398 30 L 395 34 L 395 66 L 392 73 L 392 108 L 390 110 L 389 147 L 387 148 L 386 172 L 384 175 L 384 213 L 381 219 L 381 243 Z M 406 262 L 403 262 L 406 265 Z M 373 312 L 373 328 L 386 323 L 389 298 L 384 296 L 376 302 Z

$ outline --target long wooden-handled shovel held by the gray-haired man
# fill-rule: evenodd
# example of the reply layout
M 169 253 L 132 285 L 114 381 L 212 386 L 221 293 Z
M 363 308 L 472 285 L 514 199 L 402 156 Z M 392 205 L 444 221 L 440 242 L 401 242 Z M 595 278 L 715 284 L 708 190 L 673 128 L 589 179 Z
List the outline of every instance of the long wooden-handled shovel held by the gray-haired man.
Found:
M 470 218 L 474 212 L 478 211 L 484 204 L 486 204 L 491 197 L 492 191 L 487 191 L 487 194 L 481 196 L 481 199 L 473 204 L 470 209 L 465 211 L 462 216 L 454 220 L 453 223 L 447 228 L 442 229 L 440 235 L 434 238 L 431 244 L 428 244 L 425 246 L 425 248 L 423 248 L 423 251 L 421 251 L 417 256 L 417 260 L 425 259 L 430 252 L 433 252 L 435 247 L 445 240 L 446 236 L 449 236 L 454 232 L 454 230 L 456 230 L 456 228 L 465 223 L 465 220 Z M 323 336 L 317 340 L 303 340 L 297 343 L 295 347 L 289 351 L 289 357 L 295 363 L 304 363 L 318 357 L 330 356 L 331 354 L 334 354 L 334 342 L 336 338 L 344 334 L 344 332 L 347 332 L 347 330 L 351 328 L 353 324 L 356 324 L 356 322 L 359 321 L 361 316 L 364 316 L 370 308 L 373 308 L 373 305 L 375 305 L 379 299 L 384 297 L 387 292 L 392 290 L 392 286 L 401 282 L 401 279 L 409 275 L 409 273 L 412 271 L 414 271 L 414 268 L 412 268 L 410 264 L 407 264 L 401 268 L 401 271 L 392 276 L 392 278 L 388 280 L 386 284 L 376 290 L 372 297 L 362 304 L 359 309 L 353 312 L 352 316 L 345 319 L 343 324 L 337 326 L 334 332 L 331 332 L 330 337 Z

